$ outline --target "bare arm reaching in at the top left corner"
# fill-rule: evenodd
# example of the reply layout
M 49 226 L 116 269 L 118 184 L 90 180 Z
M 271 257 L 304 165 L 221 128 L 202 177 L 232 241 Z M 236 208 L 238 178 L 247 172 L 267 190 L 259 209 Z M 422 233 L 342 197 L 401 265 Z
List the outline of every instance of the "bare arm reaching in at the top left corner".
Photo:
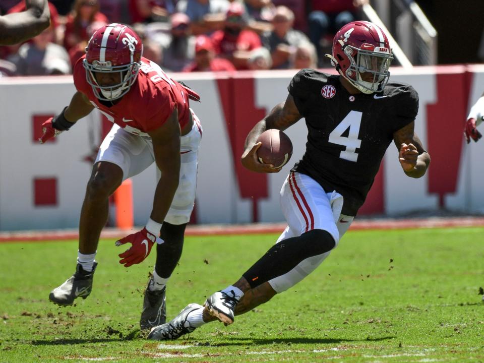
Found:
M 22 43 L 50 25 L 47 0 L 26 0 L 27 10 L 0 16 L 0 45 Z

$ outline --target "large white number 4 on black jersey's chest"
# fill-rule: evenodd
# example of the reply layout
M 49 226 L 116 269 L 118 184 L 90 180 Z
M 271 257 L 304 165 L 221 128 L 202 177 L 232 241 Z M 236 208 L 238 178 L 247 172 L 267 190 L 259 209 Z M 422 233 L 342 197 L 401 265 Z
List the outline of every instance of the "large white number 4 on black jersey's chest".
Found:
M 339 157 L 341 159 L 354 161 L 358 160 L 356 148 L 361 146 L 361 140 L 358 139 L 359 127 L 361 125 L 362 112 L 350 111 L 345 118 L 335 127 L 329 134 L 329 142 L 332 144 L 346 146 L 346 149 L 341 151 Z M 348 136 L 341 136 L 349 128 Z

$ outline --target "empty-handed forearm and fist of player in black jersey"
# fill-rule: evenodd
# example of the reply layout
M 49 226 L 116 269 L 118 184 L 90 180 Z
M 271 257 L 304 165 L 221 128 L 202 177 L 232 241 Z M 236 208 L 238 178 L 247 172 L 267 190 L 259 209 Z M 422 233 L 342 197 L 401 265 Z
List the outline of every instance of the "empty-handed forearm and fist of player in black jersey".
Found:
M 419 178 L 425 174 L 430 164 L 430 155 L 414 132 L 414 122 L 393 134 L 393 141 L 399 150 L 398 160 L 408 176 Z

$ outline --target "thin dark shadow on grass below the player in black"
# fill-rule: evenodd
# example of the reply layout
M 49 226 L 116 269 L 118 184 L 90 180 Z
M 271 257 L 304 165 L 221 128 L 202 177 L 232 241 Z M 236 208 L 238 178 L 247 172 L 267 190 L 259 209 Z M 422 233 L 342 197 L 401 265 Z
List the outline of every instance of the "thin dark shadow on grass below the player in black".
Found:
M 393 339 L 395 336 L 386 336 L 381 338 L 366 338 L 366 339 L 324 339 L 324 338 L 274 338 L 274 339 L 256 339 L 256 338 L 236 338 L 233 337 L 233 342 L 213 344 L 212 346 L 235 346 L 235 345 L 268 345 L 268 344 L 336 344 L 344 342 L 361 342 L 361 341 L 382 341 Z M 236 342 L 235 340 L 240 340 Z

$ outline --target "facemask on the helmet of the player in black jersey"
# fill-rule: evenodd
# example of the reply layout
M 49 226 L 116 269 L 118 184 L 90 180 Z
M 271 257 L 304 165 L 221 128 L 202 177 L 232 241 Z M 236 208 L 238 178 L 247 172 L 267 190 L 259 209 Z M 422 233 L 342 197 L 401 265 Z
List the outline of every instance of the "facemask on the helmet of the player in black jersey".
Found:
M 390 77 L 388 69 L 393 59 L 393 54 L 389 49 L 362 44 L 359 49 L 346 45 L 343 47 L 343 51 L 348 57 L 350 65 L 346 72 L 341 73 L 342 76 L 363 93 L 371 94 L 383 91 Z

